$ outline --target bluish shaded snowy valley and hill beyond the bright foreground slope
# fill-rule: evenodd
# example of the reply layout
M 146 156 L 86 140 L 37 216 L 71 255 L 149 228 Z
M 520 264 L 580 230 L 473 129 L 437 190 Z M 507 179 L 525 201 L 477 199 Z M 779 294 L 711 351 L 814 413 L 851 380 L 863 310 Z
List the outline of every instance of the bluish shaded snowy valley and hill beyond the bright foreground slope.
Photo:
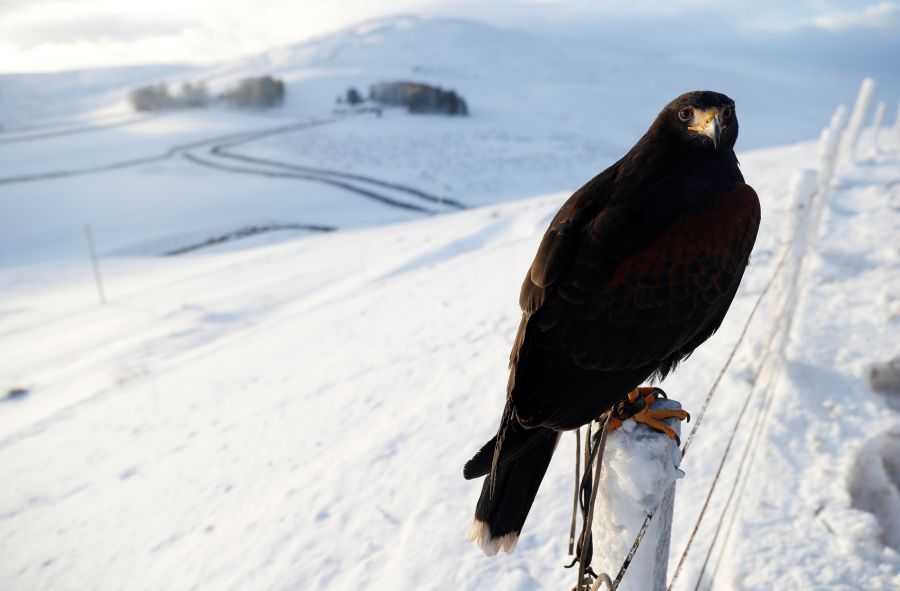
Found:
M 358 228 L 572 191 L 687 89 L 735 98 L 748 149 L 814 138 L 858 84 L 777 60 L 684 59 L 391 17 L 206 70 L 0 76 L 14 122 L 0 129 L 0 264 L 81 257 L 84 224 L 102 255 L 158 255 L 248 227 Z M 286 80 L 283 107 L 136 115 L 124 102 L 154 75 L 220 89 L 261 73 Z M 397 78 L 458 90 L 472 116 L 333 112 L 349 86 Z

